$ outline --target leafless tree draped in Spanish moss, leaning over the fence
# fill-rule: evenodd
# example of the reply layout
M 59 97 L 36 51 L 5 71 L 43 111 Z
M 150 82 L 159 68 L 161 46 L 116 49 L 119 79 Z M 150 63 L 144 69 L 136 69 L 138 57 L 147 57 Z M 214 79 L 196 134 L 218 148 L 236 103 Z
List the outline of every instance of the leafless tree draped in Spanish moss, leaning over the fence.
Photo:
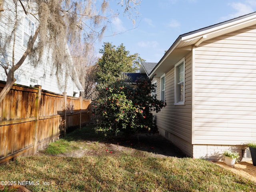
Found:
M 119 3 L 124 6 L 124 14 L 132 17 L 140 0 L 120 0 Z M 4 11 L 0 12 L 0 22 L 9 30 L 0 38 L 0 65 L 7 76 L 0 102 L 16 81 L 15 72 L 27 57 L 34 65 L 40 64 L 42 55 L 50 50 L 57 74 L 67 62 L 67 43 L 78 45 L 81 41 L 101 38 L 107 27 L 108 0 L 0 0 L 0 9 L 1 5 Z M 37 28 L 31 34 L 26 50 L 18 56 L 15 54 L 17 31 L 20 17 L 24 15 L 33 17 Z M 5 62 L 7 52 L 12 55 L 10 62 Z

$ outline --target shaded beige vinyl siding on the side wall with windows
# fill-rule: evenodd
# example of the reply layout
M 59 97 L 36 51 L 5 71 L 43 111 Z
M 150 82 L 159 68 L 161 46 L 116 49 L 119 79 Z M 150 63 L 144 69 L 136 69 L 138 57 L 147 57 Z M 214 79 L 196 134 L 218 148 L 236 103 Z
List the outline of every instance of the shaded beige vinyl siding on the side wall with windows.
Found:
M 154 114 L 158 128 L 175 134 L 191 143 L 191 61 L 192 53 L 185 57 L 185 105 L 174 106 L 174 67 L 166 72 L 165 98 L 167 106 Z M 173 64 L 174 65 L 174 64 Z M 160 99 L 160 78 L 157 79 L 157 97 Z

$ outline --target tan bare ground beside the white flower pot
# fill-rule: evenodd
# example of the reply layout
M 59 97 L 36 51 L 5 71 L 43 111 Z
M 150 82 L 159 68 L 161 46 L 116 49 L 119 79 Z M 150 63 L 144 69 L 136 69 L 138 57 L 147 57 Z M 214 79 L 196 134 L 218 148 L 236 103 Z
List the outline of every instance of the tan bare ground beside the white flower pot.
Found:
M 252 180 L 253 182 L 256 182 L 256 166 L 253 166 L 252 161 L 240 161 L 234 166 L 228 166 L 225 162 L 215 163 L 227 170 L 230 170 L 235 174 L 238 174 Z

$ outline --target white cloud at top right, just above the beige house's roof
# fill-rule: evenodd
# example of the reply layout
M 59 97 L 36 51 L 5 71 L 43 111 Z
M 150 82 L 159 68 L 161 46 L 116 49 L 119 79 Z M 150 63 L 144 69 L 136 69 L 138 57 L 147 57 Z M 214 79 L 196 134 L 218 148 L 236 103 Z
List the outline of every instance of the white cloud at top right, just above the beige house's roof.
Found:
M 254 10 L 251 6 L 253 2 L 252 1 L 250 1 L 250 2 L 251 2 L 250 5 L 243 4 L 243 3 L 230 3 L 230 4 L 228 4 L 229 6 L 234 8 L 236 10 L 236 12 L 233 13 L 233 14 L 229 14 L 228 16 L 222 17 L 221 19 L 222 20 L 233 19 L 233 18 L 236 18 L 236 17 L 243 16 L 243 15 L 254 12 Z

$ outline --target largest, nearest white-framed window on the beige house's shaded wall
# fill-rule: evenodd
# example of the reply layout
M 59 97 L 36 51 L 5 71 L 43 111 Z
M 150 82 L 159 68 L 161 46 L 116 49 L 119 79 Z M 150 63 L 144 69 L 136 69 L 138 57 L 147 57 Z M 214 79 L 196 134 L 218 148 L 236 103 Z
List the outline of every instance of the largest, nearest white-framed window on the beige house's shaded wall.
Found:
M 175 65 L 175 103 L 174 105 L 184 105 L 185 87 L 185 60 L 182 59 Z

